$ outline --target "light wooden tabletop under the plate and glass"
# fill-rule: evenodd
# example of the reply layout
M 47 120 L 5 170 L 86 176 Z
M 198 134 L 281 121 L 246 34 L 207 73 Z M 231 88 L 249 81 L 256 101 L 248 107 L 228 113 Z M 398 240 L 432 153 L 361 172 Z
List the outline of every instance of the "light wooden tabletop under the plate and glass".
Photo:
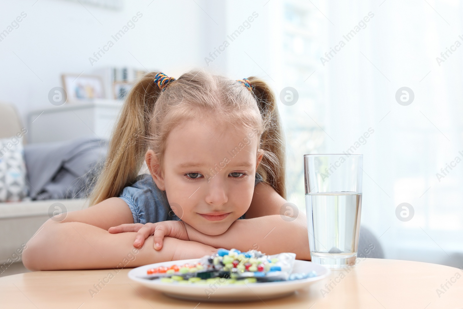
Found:
M 251 303 L 176 300 L 131 281 L 129 270 L 36 271 L 1 277 L 0 308 L 463 308 L 463 271 L 421 262 L 362 259 L 350 272 L 332 271 L 323 282 L 292 296 Z M 97 291 L 94 284 L 100 280 L 107 283 Z

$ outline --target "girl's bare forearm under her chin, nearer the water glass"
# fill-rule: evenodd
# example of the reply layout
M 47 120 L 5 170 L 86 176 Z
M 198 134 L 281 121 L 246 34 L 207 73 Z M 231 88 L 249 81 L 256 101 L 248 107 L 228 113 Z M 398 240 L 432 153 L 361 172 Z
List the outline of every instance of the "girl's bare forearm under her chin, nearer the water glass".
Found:
M 296 259 L 310 259 L 307 221 L 299 216 L 294 221 L 284 221 L 280 215 L 269 215 L 253 219 L 237 220 L 228 230 L 216 236 L 200 233 L 188 227 L 190 240 L 215 248 L 251 249 L 266 254 L 294 252 Z

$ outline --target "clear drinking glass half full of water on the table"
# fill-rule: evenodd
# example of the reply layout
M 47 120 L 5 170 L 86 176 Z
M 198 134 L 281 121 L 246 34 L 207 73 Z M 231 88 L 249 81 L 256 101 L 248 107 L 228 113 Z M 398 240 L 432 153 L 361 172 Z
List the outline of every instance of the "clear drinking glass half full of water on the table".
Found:
M 304 155 L 307 229 L 312 262 L 330 268 L 355 265 L 362 208 L 358 154 Z

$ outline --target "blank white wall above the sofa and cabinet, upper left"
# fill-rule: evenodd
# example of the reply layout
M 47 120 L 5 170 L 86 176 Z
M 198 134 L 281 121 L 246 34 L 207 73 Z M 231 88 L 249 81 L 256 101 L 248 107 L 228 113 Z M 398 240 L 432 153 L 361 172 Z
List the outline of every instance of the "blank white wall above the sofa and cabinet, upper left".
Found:
M 67 0 L 35 2 L 0 2 L 0 32 L 22 12 L 27 14 L 19 28 L 0 42 L 0 101 L 13 103 L 23 119 L 29 110 L 51 106 L 48 92 L 62 86 L 62 73 L 127 66 L 179 76 L 204 66 L 200 43 L 205 41 L 208 17 L 194 1 L 131 0 L 120 11 Z M 92 67 L 88 58 L 137 12 L 143 17 L 135 27 Z

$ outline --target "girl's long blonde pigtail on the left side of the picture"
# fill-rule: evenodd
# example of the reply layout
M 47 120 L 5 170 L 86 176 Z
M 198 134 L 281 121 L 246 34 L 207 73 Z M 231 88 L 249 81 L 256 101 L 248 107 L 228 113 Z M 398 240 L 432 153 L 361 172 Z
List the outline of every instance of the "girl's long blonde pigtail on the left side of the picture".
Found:
M 157 72 L 145 74 L 131 89 L 113 130 L 106 162 L 90 195 L 90 206 L 119 195 L 135 182 L 147 151 L 149 123 L 161 89 Z

